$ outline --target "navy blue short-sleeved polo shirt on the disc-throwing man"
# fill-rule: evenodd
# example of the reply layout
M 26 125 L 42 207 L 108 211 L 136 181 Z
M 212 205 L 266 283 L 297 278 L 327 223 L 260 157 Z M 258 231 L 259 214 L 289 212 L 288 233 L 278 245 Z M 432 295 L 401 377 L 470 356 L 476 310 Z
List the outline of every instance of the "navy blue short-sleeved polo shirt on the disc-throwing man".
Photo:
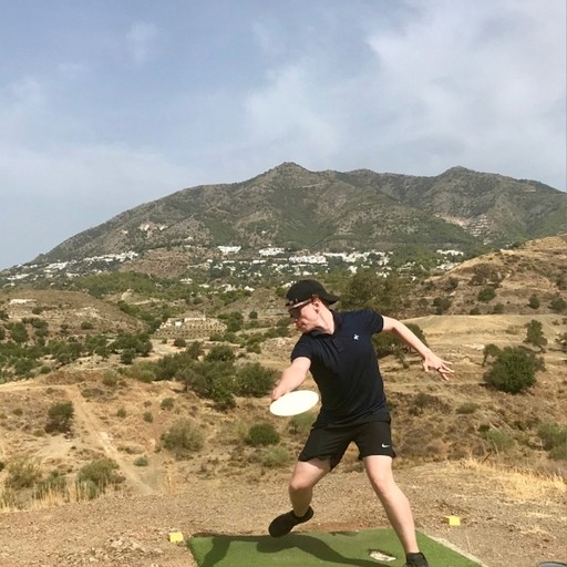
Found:
M 305 333 L 291 351 L 291 360 L 306 357 L 321 393 L 321 411 L 315 426 L 350 425 L 389 419 L 384 383 L 378 365 L 372 334 L 381 332 L 380 313 L 332 311 L 334 332 Z

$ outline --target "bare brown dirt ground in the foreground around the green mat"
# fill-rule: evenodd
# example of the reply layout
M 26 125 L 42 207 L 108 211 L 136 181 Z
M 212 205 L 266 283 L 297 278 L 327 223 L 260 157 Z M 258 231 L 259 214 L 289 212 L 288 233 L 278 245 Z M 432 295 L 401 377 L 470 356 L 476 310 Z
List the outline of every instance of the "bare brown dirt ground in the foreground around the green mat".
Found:
M 487 567 L 535 567 L 545 559 L 567 558 L 565 487 L 546 486 L 517 502 L 506 489 L 511 478 L 502 472 L 451 463 L 398 471 L 396 477 L 420 530 Z M 317 489 L 313 507 L 316 516 L 302 529 L 388 525 L 363 473 L 329 475 Z M 195 566 L 185 545 L 168 542 L 171 532 L 181 530 L 184 537 L 204 532 L 266 534 L 272 516 L 287 509 L 286 477 L 275 473 L 247 483 L 194 481 L 177 494 L 114 496 L 8 513 L 0 516 L 0 566 Z M 449 526 L 449 515 L 458 516 L 461 526 Z

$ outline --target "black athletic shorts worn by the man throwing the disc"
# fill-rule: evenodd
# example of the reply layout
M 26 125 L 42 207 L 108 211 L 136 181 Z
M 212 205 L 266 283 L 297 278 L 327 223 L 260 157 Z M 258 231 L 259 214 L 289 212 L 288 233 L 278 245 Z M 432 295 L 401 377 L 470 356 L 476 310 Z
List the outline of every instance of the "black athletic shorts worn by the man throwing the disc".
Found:
M 313 427 L 298 458 L 299 461 L 329 460 L 332 470 L 341 462 L 351 442 L 359 449 L 359 460 L 370 455 L 386 455 L 392 458 L 395 456 L 390 419 L 388 419 L 340 427 Z

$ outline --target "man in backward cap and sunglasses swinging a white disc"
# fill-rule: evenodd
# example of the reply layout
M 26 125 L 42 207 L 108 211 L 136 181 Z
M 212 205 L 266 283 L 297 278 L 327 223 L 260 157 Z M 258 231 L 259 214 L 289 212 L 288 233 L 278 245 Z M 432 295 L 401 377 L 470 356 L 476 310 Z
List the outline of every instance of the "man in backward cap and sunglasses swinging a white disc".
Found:
M 337 312 L 339 298 L 316 280 L 300 280 L 286 295 L 286 307 L 301 337 L 271 399 L 296 390 L 311 372 L 321 393 L 321 410 L 289 482 L 292 509 L 275 518 L 269 533 L 281 537 L 313 516 L 313 487 L 341 461 L 354 442 L 372 488 L 384 507 L 406 556 L 405 567 L 429 567 L 420 553 L 410 503 L 392 474 L 390 414 L 372 334 L 392 332 L 414 349 L 427 372 L 444 380 L 453 372 L 408 327 L 372 310 Z

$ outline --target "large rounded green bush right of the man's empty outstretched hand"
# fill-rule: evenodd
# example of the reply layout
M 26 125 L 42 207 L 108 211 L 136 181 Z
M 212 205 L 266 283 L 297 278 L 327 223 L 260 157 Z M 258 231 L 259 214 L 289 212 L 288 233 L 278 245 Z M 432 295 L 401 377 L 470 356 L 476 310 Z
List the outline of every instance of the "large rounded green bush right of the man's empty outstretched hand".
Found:
M 497 355 L 484 381 L 502 392 L 522 393 L 536 383 L 540 363 L 523 349 L 506 347 Z

